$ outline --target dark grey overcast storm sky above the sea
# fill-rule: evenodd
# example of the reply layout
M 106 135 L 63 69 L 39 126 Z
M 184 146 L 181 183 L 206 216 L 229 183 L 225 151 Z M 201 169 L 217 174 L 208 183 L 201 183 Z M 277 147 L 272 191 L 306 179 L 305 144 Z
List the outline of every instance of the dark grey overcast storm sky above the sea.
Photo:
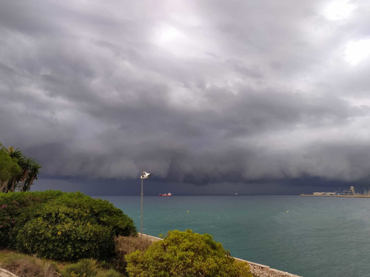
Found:
M 4 0 L 0 142 L 41 189 L 367 183 L 369 53 L 369 0 Z

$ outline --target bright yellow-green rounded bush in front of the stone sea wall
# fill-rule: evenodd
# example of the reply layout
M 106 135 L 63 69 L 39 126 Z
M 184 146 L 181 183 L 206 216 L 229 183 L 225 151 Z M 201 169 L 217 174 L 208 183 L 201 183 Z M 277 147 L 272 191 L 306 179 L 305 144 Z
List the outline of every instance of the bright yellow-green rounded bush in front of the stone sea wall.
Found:
M 163 241 L 126 256 L 131 277 L 252 277 L 247 263 L 233 259 L 211 235 L 169 231 Z

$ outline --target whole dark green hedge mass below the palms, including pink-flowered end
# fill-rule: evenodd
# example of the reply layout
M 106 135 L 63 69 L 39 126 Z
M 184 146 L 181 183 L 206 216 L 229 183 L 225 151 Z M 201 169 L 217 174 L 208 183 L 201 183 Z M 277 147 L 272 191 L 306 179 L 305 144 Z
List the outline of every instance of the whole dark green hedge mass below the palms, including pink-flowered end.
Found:
M 137 235 L 120 209 L 80 192 L 0 193 L 0 226 L 0 246 L 60 260 L 108 257 L 115 236 Z

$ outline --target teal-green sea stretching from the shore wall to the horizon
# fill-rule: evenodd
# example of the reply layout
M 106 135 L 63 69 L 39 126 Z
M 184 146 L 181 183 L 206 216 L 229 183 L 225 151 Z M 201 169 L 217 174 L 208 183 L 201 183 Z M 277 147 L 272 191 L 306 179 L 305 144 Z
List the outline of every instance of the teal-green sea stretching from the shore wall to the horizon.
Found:
M 140 230 L 140 196 L 94 198 L 112 202 Z M 370 276 L 370 199 L 144 196 L 144 233 L 174 229 L 209 233 L 234 257 L 304 277 Z

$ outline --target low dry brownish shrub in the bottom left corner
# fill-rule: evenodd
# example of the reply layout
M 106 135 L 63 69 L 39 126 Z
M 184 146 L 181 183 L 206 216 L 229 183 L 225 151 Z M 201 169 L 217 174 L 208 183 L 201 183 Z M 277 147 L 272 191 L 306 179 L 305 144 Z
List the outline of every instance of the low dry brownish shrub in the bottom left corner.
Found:
M 1 266 L 20 277 L 58 277 L 57 266 L 24 254 L 10 254 Z

